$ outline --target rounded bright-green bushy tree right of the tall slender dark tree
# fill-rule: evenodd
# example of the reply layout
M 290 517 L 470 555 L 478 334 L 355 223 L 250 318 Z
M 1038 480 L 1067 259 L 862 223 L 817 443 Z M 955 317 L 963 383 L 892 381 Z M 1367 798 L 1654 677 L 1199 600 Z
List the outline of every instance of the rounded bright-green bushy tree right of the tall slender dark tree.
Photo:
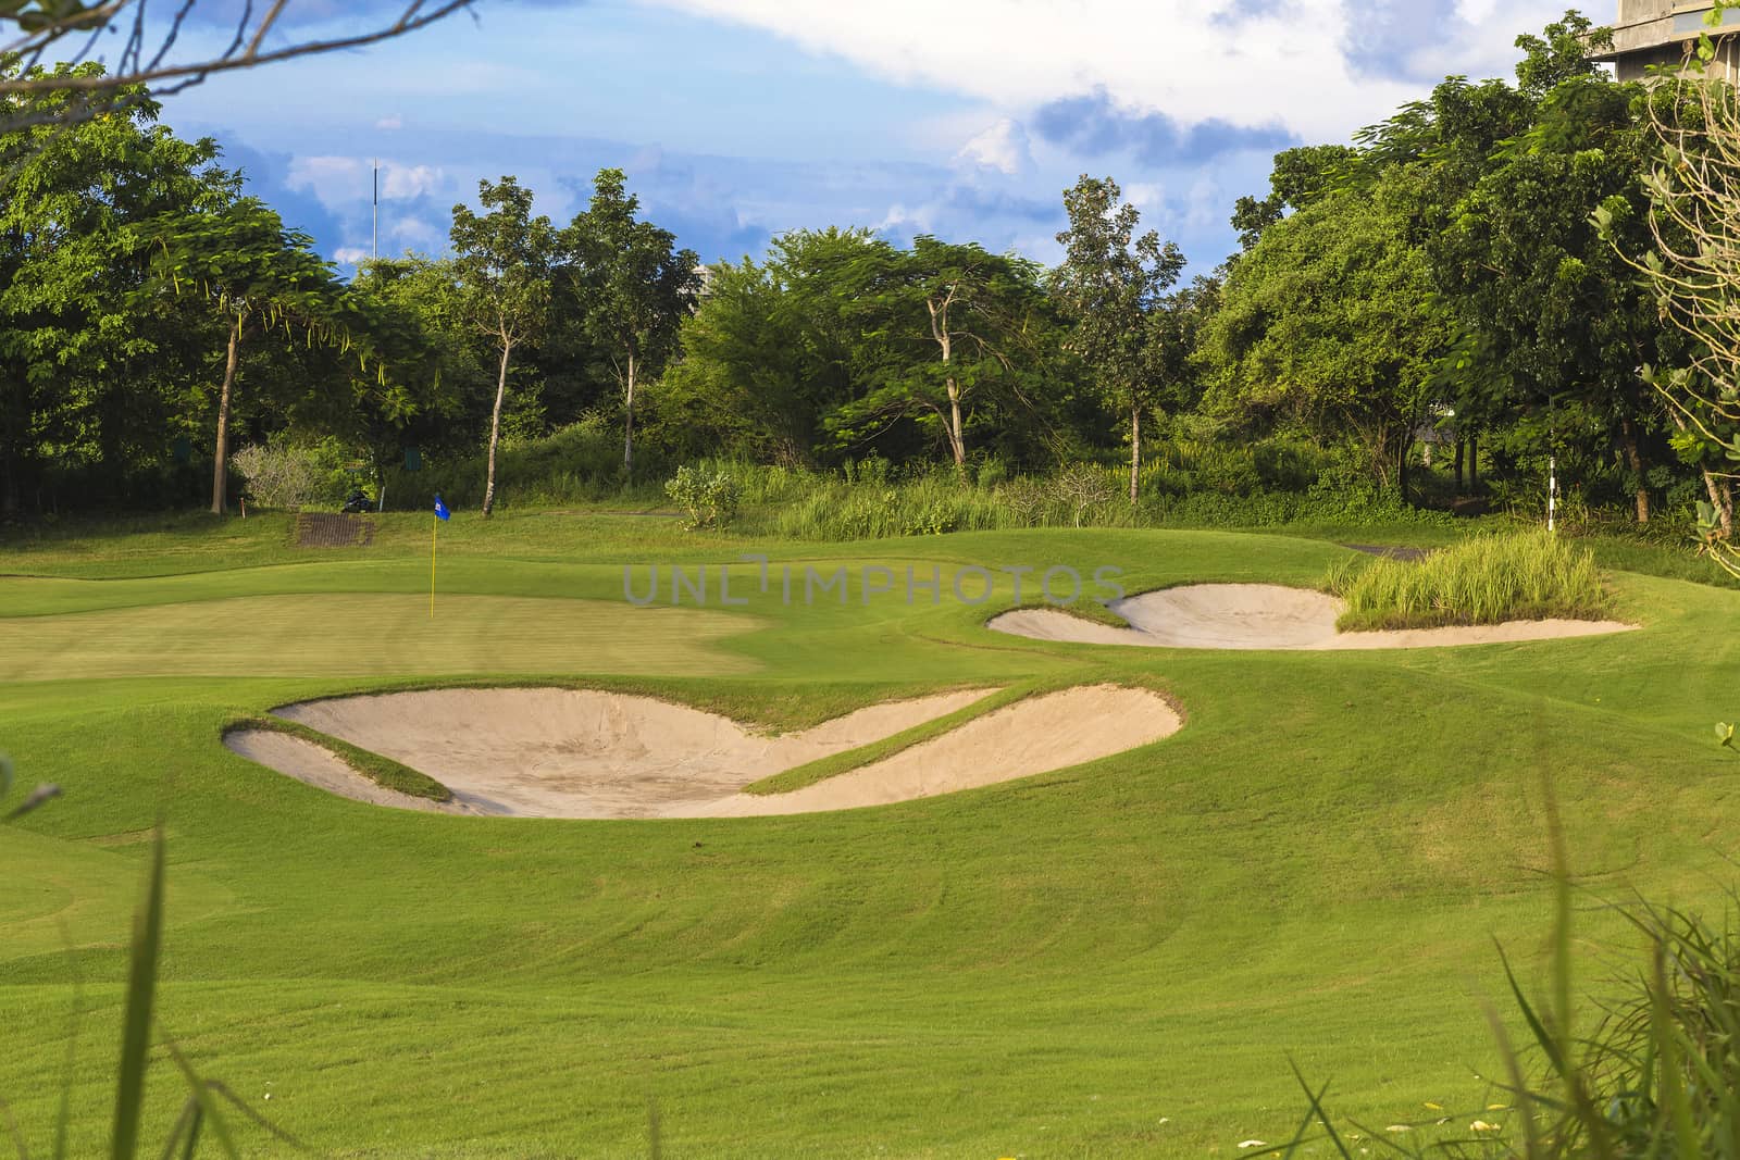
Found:
M 1376 197 L 1331 193 L 1275 223 L 1227 278 L 1204 332 L 1208 403 L 1322 440 L 1352 433 L 1382 487 L 1406 487 L 1448 325 L 1425 256 Z

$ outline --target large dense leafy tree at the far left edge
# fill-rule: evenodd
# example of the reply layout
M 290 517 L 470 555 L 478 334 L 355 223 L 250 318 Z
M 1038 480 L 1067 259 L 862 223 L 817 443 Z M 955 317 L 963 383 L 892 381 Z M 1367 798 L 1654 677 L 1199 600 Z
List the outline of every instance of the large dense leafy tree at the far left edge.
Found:
M 172 442 L 172 383 L 200 323 L 139 296 L 141 226 L 224 203 L 235 177 L 216 167 L 214 143 L 177 139 L 155 103 L 132 96 L 125 115 L 0 129 L 0 513 L 17 511 L 49 464 L 99 466 L 120 487 L 130 464 Z M 64 103 L 0 96 L 0 123 Z

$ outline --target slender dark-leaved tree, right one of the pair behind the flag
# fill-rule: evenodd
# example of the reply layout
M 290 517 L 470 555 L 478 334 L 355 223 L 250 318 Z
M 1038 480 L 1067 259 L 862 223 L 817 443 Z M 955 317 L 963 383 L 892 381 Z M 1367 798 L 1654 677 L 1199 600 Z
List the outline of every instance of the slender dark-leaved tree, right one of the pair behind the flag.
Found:
M 623 471 L 635 470 L 635 388 L 656 377 L 677 350 L 677 334 L 701 289 L 694 250 L 677 235 L 635 221 L 640 198 L 621 169 L 600 169 L 588 209 L 562 231 L 567 277 L 586 329 L 609 351 L 623 391 Z

